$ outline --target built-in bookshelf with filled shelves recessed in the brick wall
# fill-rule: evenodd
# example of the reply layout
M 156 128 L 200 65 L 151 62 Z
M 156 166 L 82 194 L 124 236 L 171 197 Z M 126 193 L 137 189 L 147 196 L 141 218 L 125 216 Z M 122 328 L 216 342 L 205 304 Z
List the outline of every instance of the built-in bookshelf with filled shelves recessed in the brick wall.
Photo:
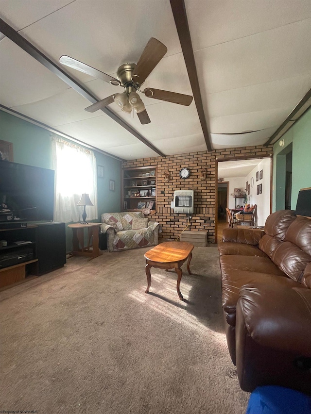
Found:
M 123 211 L 156 210 L 156 166 L 123 168 Z

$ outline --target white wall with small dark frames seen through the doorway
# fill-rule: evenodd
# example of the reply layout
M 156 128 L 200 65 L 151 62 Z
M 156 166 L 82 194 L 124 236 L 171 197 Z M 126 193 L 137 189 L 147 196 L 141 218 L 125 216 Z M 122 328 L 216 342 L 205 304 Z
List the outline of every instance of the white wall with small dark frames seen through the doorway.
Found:
M 250 186 L 250 194 L 247 195 L 247 202 L 250 204 L 257 204 L 257 220 L 256 226 L 264 226 L 266 218 L 270 214 L 270 170 L 271 161 L 268 158 L 260 161 L 259 165 L 254 168 L 245 178 L 248 183 L 251 182 L 251 178 L 254 179 L 254 186 Z M 262 179 L 256 181 L 256 172 L 262 170 Z M 262 193 L 257 195 L 257 185 L 262 184 Z

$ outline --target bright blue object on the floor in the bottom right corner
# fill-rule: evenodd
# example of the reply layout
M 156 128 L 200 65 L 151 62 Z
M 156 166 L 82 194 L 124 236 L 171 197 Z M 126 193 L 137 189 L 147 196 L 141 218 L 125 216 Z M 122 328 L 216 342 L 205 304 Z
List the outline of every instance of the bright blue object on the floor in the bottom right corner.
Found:
M 311 397 L 289 388 L 257 387 L 245 414 L 311 414 Z

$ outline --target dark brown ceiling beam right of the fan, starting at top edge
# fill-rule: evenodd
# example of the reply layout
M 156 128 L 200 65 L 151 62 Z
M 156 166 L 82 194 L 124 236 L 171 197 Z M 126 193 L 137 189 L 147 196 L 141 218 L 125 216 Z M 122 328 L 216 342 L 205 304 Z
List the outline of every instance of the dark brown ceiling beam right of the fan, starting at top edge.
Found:
M 170 0 L 171 8 L 173 12 L 173 17 L 175 20 L 175 25 L 177 33 L 179 36 L 179 41 L 181 49 L 184 55 L 188 76 L 192 88 L 193 98 L 198 111 L 198 116 L 201 122 L 202 131 L 204 134 L 204 139 L 207 145 L 207 150 L 212 150 L 210 133 L 207 128 L 206 116 L 204 114 L 202 96 L 200 92 L 200 85 L 198 80 L 198 74 L 196 71 L 193 48 L 191 43 L 188 18 L 186 13 L 186 7 L 184 0 Z

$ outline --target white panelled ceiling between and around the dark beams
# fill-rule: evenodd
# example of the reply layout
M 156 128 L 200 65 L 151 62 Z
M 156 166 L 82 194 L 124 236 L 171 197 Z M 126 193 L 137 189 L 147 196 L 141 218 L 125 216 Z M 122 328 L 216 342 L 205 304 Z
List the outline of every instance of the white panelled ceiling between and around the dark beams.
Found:
M 264 144 L 311 87 L 311 1 L 185 4 L 212 148 Z M 168 51 L 144 87 L 192 95 L 169 0 L 0 0 L 0 17 L 57 65 L 69 55 L 114 77 L 155 37 Z M 122 92 L 62 69 L 97 99 Z M 165 155 L 207 149 L 194 101 L 142 99 L 147 125 L 115 103 L 109 109 Z M 102 111 L 86 112 L 86 98 L 7 37 L 0 40 L 0 104 L 123 159 L 158 155 Z

